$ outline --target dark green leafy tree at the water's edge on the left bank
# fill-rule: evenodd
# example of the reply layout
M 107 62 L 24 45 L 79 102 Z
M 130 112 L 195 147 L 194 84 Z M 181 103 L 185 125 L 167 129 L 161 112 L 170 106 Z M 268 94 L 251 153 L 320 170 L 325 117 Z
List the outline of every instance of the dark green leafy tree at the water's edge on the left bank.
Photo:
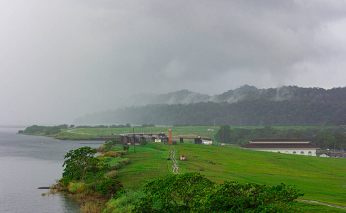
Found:
M 96 148 L 84 146 L 76 150 L 69 151 L 65 156 L 64 173 L 62 177 L 67 180 L 82 180 L 84 178 L 95 176 L 96 173 L 103 172 L 106 167 L 99 158 L 95 158 Z

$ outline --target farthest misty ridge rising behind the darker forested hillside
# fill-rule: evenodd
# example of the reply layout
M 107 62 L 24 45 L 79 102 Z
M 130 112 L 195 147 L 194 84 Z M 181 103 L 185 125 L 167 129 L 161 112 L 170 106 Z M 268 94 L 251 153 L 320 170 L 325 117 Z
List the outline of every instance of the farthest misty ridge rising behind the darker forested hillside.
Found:
M 199 102 L 228 102 L 230 104 L 245 100 L 264 99 L 269 101 L 284 101 L 284 100 L 315 100 L 325 95 L 330 95 L 335 92 L 333 88 L 323 89 L 319 87 L 303 88 L 296 86 L 282 86 L 278 88 L 257 89 L 257 87 L 247 84 L 238 89 L 231 89 L 223 94 L 208 95 L 198 92 L 191 92 L 187 89 L 182 89 L 177 92 L 169 92 L 167 94 L 137 94 L 130 97 L 128 100 L 129 106 L 145 106 L 147 104 L 191 104 Z

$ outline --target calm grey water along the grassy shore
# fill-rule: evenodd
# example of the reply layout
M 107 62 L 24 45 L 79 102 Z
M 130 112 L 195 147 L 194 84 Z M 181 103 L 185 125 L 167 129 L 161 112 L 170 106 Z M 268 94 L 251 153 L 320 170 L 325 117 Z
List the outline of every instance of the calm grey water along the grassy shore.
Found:
M 63 156 L 68 151 L 97 148 L 101 145 L 81 143 L 102 142 L 17 135 L 19 130 L 0 127 L 0 212 L 77 212 L 76 200 L 62 194 L 42 196 L 48 190 L 38 187 L 50 187 L 62 177 Z

